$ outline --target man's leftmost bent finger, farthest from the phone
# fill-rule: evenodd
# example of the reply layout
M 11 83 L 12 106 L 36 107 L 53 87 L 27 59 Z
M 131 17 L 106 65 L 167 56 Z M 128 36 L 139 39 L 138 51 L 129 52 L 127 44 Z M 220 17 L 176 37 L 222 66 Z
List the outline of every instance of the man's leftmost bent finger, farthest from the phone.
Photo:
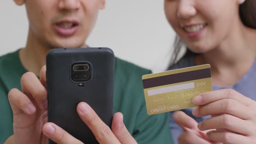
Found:
M 8 99 L 14 115 L 19 115 L 23 112 L 31 115 L 36 112 L 36 107 L 33 105 L 31 100 L 27 97 L 27 95 L 20 92 L 19 89 L 11 89 L 8 93 Z

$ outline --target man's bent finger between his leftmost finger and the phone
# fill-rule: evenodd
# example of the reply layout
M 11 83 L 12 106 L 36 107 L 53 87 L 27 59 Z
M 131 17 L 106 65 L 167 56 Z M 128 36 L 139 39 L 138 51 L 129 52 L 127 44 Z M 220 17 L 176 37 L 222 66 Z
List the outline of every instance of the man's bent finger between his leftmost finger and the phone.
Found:
M 40 109 L 47 109 L 47 92 L 37 76 L 27 72 L 21 77 L 21 87 L 25 94 L 31 94 Z

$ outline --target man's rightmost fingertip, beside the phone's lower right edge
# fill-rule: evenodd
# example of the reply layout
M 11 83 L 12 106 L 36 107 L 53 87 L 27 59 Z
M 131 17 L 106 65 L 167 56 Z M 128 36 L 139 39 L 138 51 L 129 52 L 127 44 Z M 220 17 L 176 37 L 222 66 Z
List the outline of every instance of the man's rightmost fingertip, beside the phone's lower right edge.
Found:
M 126 129 L 123 122 L 123 114 L 120 112 L 115 113 L 113 116 L 112 131 L 122 144 L 137 143 Z

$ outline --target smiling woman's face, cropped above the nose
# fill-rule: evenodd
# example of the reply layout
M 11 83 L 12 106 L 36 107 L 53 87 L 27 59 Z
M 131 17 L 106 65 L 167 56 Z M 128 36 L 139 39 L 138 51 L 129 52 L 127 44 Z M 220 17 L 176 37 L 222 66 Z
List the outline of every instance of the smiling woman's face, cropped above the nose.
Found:
M 219 46 L 240 21 L 238 0 L 165 0 L 168 22 L 189 47 L 203 53 Z

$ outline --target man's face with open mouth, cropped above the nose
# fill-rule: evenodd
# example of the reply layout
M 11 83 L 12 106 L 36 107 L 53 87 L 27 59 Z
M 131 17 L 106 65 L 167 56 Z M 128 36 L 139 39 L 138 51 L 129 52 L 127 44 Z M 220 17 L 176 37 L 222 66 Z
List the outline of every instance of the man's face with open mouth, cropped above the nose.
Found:
M 56 47 L 81 47 L 95 26 L 104 0 L 15 0 L 25 3 L 30 36 L 38 43 Z

